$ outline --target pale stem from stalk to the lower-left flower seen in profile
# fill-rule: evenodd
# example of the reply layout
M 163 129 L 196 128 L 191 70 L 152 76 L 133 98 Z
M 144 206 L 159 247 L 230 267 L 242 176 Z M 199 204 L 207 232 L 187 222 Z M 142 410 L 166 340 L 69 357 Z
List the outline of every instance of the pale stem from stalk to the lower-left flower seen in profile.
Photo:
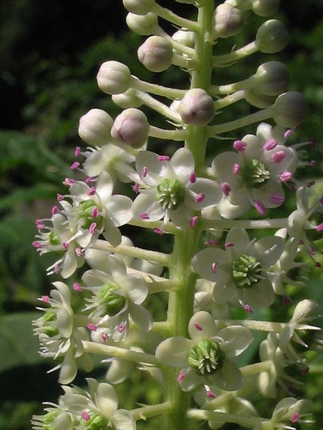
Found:
M 126 348 L 119 348 L 117 346 L 103 345 L 102 343 L 83 341 L 85 352 L 89 354 L 104 355 L 106 357 L 123 358 L 131 362 L 153 364 L 159 367 L 160 363 L 153 354 L 146 354 L 145 352 L 131 351 Z

